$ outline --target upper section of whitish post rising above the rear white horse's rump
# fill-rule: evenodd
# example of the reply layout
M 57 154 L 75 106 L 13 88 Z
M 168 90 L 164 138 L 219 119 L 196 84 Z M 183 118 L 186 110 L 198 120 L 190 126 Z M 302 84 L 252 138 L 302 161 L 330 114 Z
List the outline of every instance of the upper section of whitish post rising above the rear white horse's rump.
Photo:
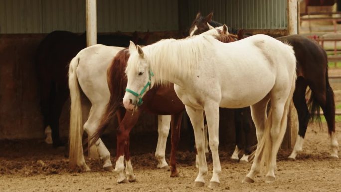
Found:
M 97 44 L 96 0 L 85 0 L 86 3 L 86 44 Z

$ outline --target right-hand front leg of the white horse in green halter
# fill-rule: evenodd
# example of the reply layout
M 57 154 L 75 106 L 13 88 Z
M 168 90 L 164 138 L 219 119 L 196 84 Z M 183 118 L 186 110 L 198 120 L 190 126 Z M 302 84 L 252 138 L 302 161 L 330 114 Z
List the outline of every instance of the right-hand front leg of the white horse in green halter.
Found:
M 219 159 L 219 104 L 210 102 L 205 104 L 205 114 L 208 124 L 209 148 L 212 152 L 213 175 L 210 180 L 209 188 L 216 188 L 220 185 L 219 174 L 221 165 Z

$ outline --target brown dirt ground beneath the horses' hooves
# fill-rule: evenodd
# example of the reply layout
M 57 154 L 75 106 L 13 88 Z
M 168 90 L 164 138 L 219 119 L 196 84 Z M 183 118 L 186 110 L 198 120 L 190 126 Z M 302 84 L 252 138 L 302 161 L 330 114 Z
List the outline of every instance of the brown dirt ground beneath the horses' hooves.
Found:
M 341 70 L 330 74 L 340 75 Z M 341 102 L 341 83 L 332 84 L 336 103 Z M 336 123 L 336 133 L 341 143 L 341 122 Z M 264 183 L 264 174 L 253 184 L 243 184 L 251 164 L 230 160 L 232 147 L 220 147 L 222 173 L 220 187 L 207 188 L 212 176 L 212 160 L 207 156 L 209 173 L 206 185 L 193 187 L 197 169 L 193 152 L 181 149 L 177 154 L 180 177 L 171 178 L 170 172 L 156 169 L 154 158 L 155 138 L 137 140 L 131 144 L 132 164 L 137 182 L 117 184 L 116 175 L 102 170 L 100 160 L 87 160 L 91 172 L 72 170 L 68 166 L 64 148 L 52 148 L 42 140 L 0 141 L 0 192 L 339 192 L 341 191 L 341 160 L 329 157 L 330 140 L 326 123 L 322 129 L 310 124 L 304 150 L 296 161 L 287 160 L 290 150 L 280 150 L 276 181 Z M 141 144 L 141 142 L 143 142 Z M 147 143 L 145 143 L 147 142 Z M 169 143 L 168 143 L 169 145 Z M 114 145 L 108 146 L 115 156 Z M 167 150 L 169 159 L 169 148 Z M 115 162 L 115 158 L 112 158 Z

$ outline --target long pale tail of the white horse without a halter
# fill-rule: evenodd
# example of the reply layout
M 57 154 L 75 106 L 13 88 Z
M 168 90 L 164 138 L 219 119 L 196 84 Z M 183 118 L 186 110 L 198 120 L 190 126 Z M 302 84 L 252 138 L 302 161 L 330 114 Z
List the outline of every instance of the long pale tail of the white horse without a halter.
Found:
M 71 97 L 70 112 L 70 133 L 69 133 L 69 161 L 71 166 L 76 166 L 81 157 L 83 157 L 82 135 L 83 135 L 83 117 L 82 104 L 77 78 L 77 66 L 79 57 L 74 57 L 69 67 L 69 89 Z

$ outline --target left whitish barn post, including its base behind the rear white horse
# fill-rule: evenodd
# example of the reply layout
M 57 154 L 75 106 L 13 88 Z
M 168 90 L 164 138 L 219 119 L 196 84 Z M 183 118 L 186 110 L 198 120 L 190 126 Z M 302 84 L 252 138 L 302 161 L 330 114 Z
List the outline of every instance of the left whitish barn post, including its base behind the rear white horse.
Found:
M 91 46 L 97 44 L 97 18 L 96 18 L 96 0 L 85 0 L 86 7 L 86 45 Z M 88 143 L 91 144 L 88 135 Z M 99 153 L 95 145 L 88 147 L 89 158 L 99 158 Z

